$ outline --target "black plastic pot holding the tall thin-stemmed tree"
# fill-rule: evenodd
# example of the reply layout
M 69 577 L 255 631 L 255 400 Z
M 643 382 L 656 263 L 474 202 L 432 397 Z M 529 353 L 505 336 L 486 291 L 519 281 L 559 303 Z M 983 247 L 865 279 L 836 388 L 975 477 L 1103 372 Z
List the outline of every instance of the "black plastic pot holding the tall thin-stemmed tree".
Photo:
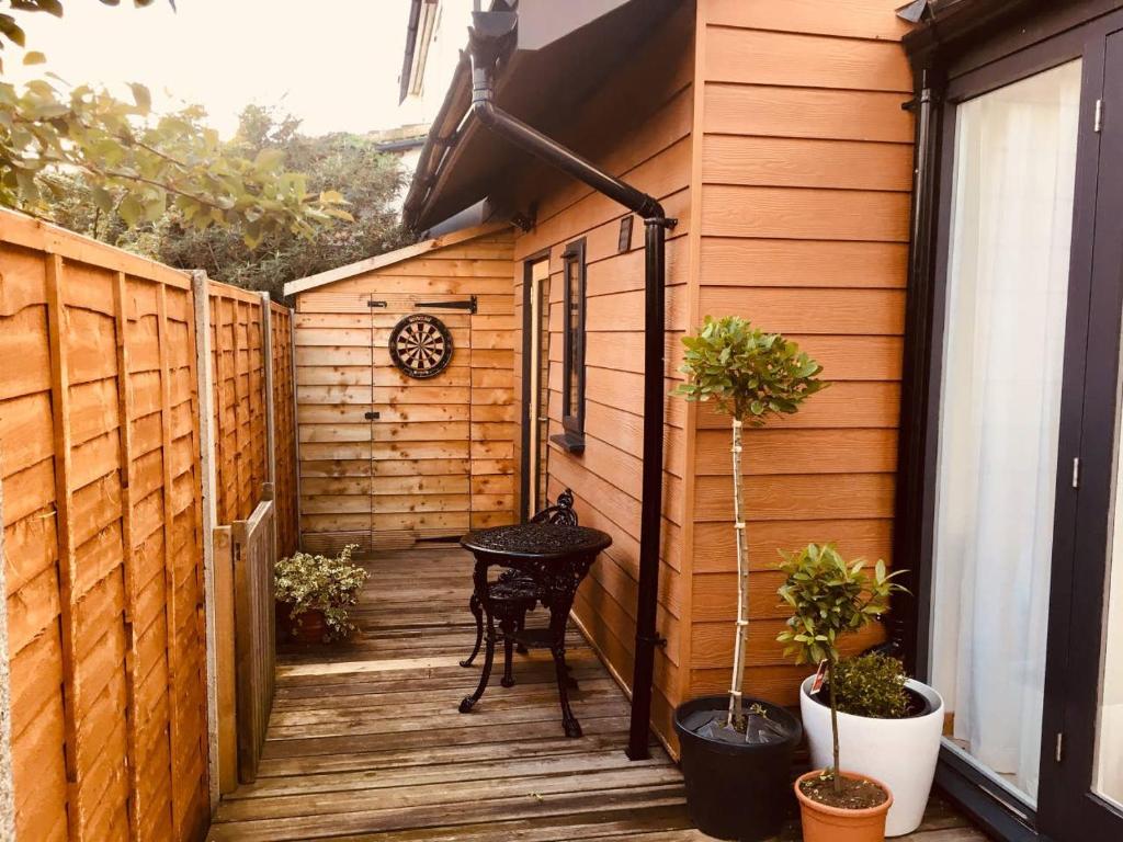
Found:
M 718 839 L 758 842 L 775 836 L 792 807 L 792 754 L 803 727 L 779 705 L 748 696 L 741 699 L 743 707 L 754 704 L 784 726 L 786 740 L 733 744 L 700 736 L 683 724 L 700 711 L 728 710 L 729 696 L 703 696 L 675 708 L 691 821 Z

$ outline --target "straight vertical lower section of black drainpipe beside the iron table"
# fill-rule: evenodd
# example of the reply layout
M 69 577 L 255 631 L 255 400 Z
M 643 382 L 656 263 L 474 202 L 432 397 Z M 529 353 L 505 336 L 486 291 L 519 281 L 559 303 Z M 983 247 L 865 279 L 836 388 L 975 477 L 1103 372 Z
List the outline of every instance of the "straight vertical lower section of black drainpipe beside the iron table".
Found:
M 655 648 L 659 644 L 655 621 L 658 608 L 659 549 L 663 543 L 663 410 L 666 369 L 666 223 L 646 219 L 643 231 L 643 472 L 639 525 L 639 596 L 636 607 L 636 666 L 632 674 L 632 708 L 628 730 L 628 757 L 643 760 L 651 721 L 651 687 Z M 642 692 L 640 688 L 643 688 Z

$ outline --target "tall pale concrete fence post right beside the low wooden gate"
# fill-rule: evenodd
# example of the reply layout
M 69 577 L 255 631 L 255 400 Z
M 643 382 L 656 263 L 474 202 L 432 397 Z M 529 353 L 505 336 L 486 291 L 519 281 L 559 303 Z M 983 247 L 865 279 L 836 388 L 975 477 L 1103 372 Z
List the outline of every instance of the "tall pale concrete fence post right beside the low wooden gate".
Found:
M 199 390 L 199 455 L 202 465 L 203 601 L 207 626 L 207 779 L 211 815 L 219 802 L 218 635 L 214 603 L 214 370 L 211 363 L 210 291 L 207 273 L 191 273 L 195 306 L 195 374 Z

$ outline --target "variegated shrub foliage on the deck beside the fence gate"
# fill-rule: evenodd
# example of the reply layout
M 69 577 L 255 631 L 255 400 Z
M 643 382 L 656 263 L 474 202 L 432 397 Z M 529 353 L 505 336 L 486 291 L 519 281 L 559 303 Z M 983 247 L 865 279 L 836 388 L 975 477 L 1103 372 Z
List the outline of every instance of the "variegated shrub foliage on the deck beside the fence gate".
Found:
M 357 543 L 344 547 L 335 558 L 296 552 L 279 559 L 274 566 L 276 601 L 291 605 L 289 619 L 300 621 L 308 611 L 322 611 L 328 638 L 339 640 L 355 630 L 348 607 L 358 602 L 358 592 L 367 573 L 353 564 Z

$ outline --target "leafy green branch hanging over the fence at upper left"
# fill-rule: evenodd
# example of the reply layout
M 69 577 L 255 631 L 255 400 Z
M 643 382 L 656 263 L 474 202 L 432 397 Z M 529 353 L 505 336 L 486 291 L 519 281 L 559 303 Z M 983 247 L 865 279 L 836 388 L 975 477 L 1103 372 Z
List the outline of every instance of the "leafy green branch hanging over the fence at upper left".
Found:
M 310 192 L 283 149 L 245 157 L 219 141 L 201 108 L 153 115 L 148 89 L 130 90 L 125 102 L 89 85 L 0 82 L 0 205 L 45 216 L 65 173 L 77 171 L 95 207 L 128 227 L 161 219 L 171 203 L 188 227 L 239 227 L 256 247 L 280 231 L 307 238 L 350 221 L 344 196 Z

